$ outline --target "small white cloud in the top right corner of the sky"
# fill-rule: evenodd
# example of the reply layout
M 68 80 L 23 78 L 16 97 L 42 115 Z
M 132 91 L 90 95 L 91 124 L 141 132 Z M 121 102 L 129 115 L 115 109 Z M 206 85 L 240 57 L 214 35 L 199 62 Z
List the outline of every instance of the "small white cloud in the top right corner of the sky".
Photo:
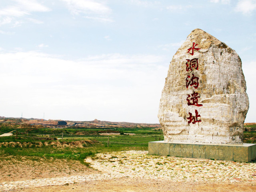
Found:
M 240 0 L 234 10 L 243 14 L 251 14 L 256 10 L 256 0 Z

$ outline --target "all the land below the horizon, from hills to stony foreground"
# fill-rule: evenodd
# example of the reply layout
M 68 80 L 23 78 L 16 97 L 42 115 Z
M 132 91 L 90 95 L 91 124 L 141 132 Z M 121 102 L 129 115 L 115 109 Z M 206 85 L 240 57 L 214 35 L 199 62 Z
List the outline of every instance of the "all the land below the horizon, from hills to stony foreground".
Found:
M 148 142 L 163 139 L 159 124 L 68 123 L 0 118 L 13 133 L 0 137 L 0 191 L 256 191 L 255 162 L 148 155 Z M 244 142 L 255 143 L 255 125 L 245 124 Z

